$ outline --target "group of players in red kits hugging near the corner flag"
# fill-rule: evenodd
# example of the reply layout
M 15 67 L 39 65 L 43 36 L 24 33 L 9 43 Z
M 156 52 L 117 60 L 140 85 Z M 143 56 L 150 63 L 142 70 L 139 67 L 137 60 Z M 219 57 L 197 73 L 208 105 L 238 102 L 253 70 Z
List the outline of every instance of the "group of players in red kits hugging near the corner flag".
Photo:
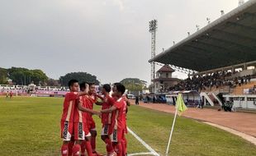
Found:
M 78 84 L 69 80 L 69 93 L 65 95 L 61 118 L 62 156 L 100 156 L 96 151 L 96 126 L 92 115 L 102 119 L 102 140 L 107 156 L 126 156 L 126 112 L 129 101 L 121 83 L 102 86 L 102 95 L 96 93 L 93 83 Z M 110 94 L 112 90 L 112 94 Z M 100 99 L 100 100 L 99 100 Z M 93 104 L 102 105 L 101 111 Z

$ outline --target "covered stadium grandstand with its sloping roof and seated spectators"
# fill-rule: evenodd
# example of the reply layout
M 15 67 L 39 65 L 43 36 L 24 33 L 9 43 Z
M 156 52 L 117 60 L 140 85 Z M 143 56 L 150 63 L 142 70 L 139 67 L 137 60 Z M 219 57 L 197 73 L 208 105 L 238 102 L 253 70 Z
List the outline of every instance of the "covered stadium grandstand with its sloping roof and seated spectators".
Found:
M 149 62 L 195 71 L 170 87 L 172 93 L 196 90 L 202 103 L 231 101 L 239 108 L 256 109 L 255 52 L 256 0 L 249 0 Z

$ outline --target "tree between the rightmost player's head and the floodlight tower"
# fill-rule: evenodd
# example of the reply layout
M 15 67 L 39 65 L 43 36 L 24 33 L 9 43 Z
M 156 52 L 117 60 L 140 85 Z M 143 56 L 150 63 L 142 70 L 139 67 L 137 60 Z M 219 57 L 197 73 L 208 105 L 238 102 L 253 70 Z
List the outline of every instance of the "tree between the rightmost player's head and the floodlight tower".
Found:
M 142 91 L 142 89 L 145 89 L 147 85 L 145 80 L 140 80 L 138 78 L 126 78 L 120 82 L 130 91 Z

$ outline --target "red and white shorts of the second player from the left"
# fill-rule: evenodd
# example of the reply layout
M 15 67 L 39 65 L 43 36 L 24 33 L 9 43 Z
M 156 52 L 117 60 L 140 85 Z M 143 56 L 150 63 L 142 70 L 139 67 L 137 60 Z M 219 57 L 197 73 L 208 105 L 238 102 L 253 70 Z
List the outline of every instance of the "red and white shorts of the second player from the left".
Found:
M 85 140 L 85 137 L 91 136 L 87 124 L 85 122 L 74 122 L 73 136 L 74 140 Z

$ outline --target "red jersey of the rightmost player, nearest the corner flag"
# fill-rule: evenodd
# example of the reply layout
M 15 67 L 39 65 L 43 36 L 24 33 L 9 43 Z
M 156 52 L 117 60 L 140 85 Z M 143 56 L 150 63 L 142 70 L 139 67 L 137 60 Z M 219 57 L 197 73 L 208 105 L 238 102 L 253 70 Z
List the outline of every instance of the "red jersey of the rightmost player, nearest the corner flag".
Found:
M 115 126 L 117 123 L 118 129 L 125 128 L 125 121 L 124 118 L 126 117 L 126 101 L 123 98 L 117 99 L 114 103 L 116 110 L 112 112 L 111 117 L 111 126 Z

